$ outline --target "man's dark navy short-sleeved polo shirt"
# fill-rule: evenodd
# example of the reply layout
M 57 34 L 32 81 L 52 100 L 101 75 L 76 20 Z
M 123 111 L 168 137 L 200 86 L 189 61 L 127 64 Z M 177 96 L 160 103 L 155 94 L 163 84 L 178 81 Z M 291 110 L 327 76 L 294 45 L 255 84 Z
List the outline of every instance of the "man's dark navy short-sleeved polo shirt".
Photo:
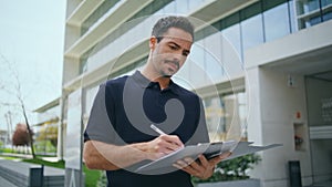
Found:
M 84 141 L 94 139 L 114 145 L 147 142 L 158 134 L 177 135 L 186 145 L 209 142 L 200 98 L 170 82 L 160 90 L 141 72 L 102 84 L 95 97 Z M 137 167 L 139 164 L 137 164 Z M 131 169 L 107 170 L 108 186 L 114 187 L 191 187 L 190 176 L 181 170 L 162 175 L 142 175 Z

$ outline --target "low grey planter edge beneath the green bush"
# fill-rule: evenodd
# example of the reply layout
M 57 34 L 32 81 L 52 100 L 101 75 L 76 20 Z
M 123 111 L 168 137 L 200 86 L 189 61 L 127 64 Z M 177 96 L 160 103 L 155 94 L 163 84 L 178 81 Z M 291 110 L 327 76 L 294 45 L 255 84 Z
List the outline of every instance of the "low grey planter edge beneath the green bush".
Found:
M 230 180 L 230 181 L 216 181 L 216 183 L 200 183 L 195 187 L 260 187 L 259 179 L 245 179 L 245 180 Z

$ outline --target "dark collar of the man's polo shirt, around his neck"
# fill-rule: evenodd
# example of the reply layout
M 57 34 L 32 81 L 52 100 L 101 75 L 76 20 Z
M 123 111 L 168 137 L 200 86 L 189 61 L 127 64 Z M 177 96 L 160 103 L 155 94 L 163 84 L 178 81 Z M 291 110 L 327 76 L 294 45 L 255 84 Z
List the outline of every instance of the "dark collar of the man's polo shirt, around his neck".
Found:
M 147 89 L 152 85 L 152 81 L 149 81 L 147 77 L 145 77 L 139 71 L 136 71 L 133 75 L 132 75 L 134 82 L 136 84 L 138 84 L 143 89 Z M 174 83 L 172 80 L 169 82 L 169 86 L 167 89 L 165 89 L 164 91 L 172 91 L 175 94 L 179 94 L 179 86 Z

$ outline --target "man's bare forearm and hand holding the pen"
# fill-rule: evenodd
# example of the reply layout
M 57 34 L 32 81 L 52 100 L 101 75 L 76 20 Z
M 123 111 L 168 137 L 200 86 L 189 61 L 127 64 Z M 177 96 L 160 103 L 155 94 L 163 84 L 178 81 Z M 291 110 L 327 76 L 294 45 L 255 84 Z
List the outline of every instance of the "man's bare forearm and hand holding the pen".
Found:
M 180 139 L 175 135 L 162 135 L 151 142 L 124 146 L 86 141 L 83 157 L 90 169 L 116 170 L 144 159 L 155 160 L 183 146 Z

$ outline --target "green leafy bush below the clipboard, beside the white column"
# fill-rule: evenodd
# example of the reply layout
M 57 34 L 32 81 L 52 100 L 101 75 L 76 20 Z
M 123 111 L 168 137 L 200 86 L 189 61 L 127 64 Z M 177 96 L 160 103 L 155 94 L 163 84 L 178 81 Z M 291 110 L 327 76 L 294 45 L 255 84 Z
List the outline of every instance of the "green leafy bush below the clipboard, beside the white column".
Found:
M 193 177 L 193 183 L 212 183 L 212 181 L 226 181 L 226 180 L 238 180 L 247 179 L 248 170 L 253 168 L 253 165 L 261 160 L 257 154 L 245 155 L 234 159 L 220 162 L 216 168 L 214 175 L 208 179 L 199 179 Z

